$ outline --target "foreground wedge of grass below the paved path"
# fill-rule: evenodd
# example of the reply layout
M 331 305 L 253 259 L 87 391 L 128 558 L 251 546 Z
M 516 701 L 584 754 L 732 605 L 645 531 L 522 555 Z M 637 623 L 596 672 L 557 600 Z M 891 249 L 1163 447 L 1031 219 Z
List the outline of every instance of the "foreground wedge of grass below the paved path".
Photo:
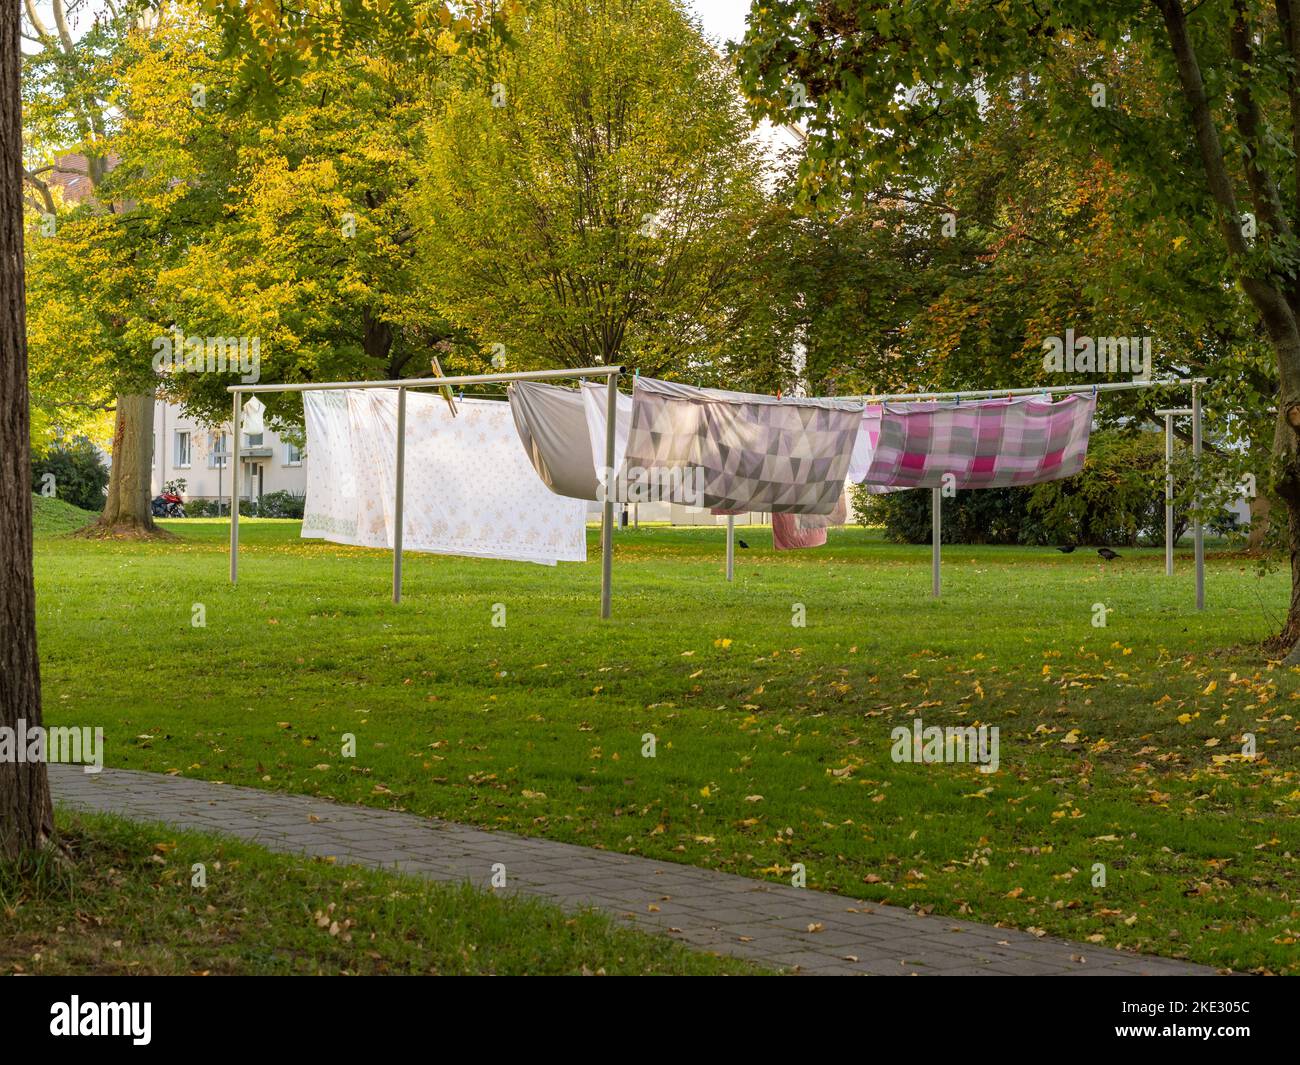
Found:
M 698 974 L 759 971 L 599 914 L 273 854 L 100 815 L 60 817 L 74 861 L 0 865 L 0 973 Z M 205 886 L 192 883 L 204 866 Z

